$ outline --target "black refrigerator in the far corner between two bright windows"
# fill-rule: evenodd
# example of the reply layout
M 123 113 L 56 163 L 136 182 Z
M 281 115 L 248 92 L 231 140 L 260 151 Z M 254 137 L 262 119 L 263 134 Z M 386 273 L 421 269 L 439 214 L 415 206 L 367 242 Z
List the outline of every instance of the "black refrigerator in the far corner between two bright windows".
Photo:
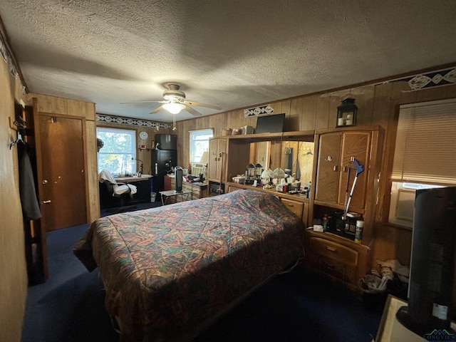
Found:
M 165 190 L 165 175 L 172 173 L 177 164 L 176 150 L 152 150 L 152 191 L 158 192 Z M 157 199 L 159 196 L 157 195 Z

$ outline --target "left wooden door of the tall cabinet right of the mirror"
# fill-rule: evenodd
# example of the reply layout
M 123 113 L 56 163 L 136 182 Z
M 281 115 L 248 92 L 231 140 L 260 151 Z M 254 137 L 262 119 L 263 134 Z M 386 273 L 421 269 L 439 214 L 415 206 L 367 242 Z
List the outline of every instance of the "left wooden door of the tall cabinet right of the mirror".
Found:
M 315 199 L 337 203 L 341 160 L 341 133 L 320 135 Z

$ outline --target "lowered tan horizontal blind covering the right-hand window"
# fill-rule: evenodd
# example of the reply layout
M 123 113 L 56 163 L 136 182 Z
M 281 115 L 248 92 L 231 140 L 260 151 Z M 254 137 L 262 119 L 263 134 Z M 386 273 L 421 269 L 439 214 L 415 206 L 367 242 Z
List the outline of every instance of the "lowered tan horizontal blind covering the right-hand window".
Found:
M 392 180 L 456 184 L 456 99 L 400 108 Z

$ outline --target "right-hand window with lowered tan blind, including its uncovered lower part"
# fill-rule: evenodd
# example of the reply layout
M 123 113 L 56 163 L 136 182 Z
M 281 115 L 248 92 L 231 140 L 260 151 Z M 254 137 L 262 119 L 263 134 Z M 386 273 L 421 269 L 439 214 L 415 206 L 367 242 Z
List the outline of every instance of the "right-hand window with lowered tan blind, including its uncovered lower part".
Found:
M 456 100 L 400 107 L 388 222 L 413 225 L 418 189 L 456 185 Z

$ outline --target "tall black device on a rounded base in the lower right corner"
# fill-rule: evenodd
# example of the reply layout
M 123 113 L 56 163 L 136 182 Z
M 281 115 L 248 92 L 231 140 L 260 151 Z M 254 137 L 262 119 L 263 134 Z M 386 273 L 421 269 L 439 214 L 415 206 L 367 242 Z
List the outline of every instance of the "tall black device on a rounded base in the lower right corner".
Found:
M 450 331 L 455 243 L 456 187 L 417 190 L 408 306 L 396 317 L 418 336 L 435 329 Z

